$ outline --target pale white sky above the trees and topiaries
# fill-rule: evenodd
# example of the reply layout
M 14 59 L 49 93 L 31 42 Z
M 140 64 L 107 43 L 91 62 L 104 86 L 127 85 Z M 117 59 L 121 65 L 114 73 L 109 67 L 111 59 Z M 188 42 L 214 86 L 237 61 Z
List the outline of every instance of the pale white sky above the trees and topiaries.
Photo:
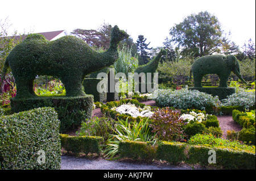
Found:
M 162 47 L 185 17 L 208 11 L 234 43 L 255 43 L 255 0 L 1 0 L 0 6 L 0 20 L 8 18 L 12 32 L 97 30 L 105 22 L 125 30 L 134 42 L 143 35 L 154 48 Z

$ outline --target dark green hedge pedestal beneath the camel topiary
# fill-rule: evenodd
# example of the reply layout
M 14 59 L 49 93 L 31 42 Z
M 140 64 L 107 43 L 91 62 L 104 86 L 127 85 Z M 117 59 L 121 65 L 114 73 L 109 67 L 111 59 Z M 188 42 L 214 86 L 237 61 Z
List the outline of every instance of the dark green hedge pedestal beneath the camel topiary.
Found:
M 11 111 L 28 111 L 39 107 L 53 107 L 60 120 L 60 132 L 81 125 L 92 117 L 93 95 L 85 96 L 35 96 L 28 99 L 11 99 Z

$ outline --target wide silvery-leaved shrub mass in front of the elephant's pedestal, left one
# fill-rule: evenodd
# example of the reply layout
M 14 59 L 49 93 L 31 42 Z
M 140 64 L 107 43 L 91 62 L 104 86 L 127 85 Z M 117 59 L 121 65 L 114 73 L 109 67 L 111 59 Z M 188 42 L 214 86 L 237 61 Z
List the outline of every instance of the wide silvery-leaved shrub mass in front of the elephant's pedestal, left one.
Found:
M 159 107 L 175 107 L 183 110 L 194 108 L 212 111 L 212 108 L 217 107 L 220 103 L 217 97 L 198 90 L 188 89 L 156 90 L 154 91 L 154 98 L 156 105 Z

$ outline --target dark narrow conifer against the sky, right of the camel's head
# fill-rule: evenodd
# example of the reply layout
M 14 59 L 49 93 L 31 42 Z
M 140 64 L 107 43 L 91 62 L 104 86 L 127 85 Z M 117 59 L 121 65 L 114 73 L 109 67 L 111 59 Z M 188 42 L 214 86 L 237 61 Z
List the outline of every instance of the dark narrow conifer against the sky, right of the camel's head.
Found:
M 150 58 L 149 56 L 149 52 L 147 52 L 147 50 L 151 50 L 152 48 L 148 48 L 148 44 L 146 44 L 146 38 L 144 38 L 143 35 L 139 35 L 138 39 L 137 39 L 137 43 L 135 43 L 137 45 L 137 50 L 139 52 L 139 65 L 143 65 L 143 64 L 147 64 L 148 58 Z

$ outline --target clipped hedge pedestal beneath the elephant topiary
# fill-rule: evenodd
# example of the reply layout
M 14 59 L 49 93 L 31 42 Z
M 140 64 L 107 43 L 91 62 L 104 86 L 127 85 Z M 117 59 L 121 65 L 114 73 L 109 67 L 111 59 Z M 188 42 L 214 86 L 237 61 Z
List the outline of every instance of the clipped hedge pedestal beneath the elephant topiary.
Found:
M 218 98 L 226 99 L 228 95 L 236 93 L 236 89 L 232 87 L 192 87 L 189 90 L 198 90 L 200 92 L 205 92 L 211 94 L 212 96 L 218 96 Z

